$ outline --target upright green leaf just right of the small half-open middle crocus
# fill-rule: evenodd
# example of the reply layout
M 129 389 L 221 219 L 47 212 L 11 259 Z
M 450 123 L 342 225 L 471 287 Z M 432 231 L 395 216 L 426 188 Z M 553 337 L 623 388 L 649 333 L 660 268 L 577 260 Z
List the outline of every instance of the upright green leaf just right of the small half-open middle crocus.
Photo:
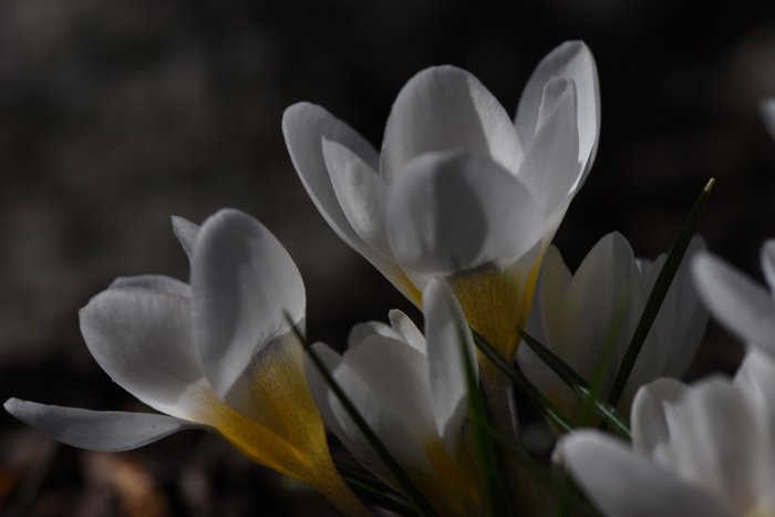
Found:
M 466 331 L 466 328 L 463 327 L 465 323 L 461 323 L 459 321 L 456 321 L 456 323 L 458 325 L 458 343 L 465 370 L 466 391 L 468 393 L 468 413 L 472 418 L 482 420 L 492 425 L 487 401 L 476 382 L 474 363 L 468 355 L 465 339 L 463 338 Z M 482 466 L 485 515 L 489 517 L 514 515 L 509 493 L 505 485 L 505 480 L 508 479 L 508 477 L 498 459 L 495 443 L 490 440 L 489 435 L 483 433 L 476 425 L 472 426 L 472 435 L 474 445 L 476 446 L 477 458 Z

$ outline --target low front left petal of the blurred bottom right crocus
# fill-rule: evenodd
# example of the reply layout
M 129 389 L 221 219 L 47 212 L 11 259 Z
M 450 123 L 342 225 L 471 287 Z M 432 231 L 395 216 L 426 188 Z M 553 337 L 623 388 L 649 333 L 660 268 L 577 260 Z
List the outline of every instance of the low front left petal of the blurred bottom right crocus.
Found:
M 562 438 L 557 454 L 610 517 L 733 517 L 724 504 L 597 431 Z

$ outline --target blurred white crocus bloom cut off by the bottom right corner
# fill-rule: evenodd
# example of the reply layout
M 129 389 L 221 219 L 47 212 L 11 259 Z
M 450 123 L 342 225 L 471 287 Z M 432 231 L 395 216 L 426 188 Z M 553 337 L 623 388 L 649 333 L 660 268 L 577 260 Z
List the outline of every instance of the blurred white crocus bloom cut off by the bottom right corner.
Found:
M 557 452 L 610 517 L 772 517 L 774 440 L 766 415 L 730 381 L 664 379 L 636 397 L 632 449 L 582 431 Z

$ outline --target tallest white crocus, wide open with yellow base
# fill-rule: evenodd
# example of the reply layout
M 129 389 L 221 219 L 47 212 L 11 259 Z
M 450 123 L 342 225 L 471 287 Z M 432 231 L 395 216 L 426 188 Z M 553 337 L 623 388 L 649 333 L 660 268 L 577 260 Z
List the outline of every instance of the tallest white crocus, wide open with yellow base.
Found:
M 468 322 L 512 359 L 542 251 L 593 161 L 599 111 L 595 60 L 574 41 L 538 65 L 514 122 L 446 65 L 403 87 L 380 153 L 309 103 L 286 110 L 282 130 L 331 228 L 417 306 L 445 277 Z

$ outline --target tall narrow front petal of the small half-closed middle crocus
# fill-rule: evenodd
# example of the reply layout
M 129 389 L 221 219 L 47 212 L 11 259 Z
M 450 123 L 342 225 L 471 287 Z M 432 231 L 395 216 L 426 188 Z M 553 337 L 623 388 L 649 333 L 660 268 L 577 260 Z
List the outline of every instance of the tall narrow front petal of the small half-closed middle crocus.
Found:
M 474 339 L 463 309 L 443 280 L 434 279 L 427 285 L 423 307 L 433 413 L 438 435 L 444 437 L 447 449 L 454 452 L 467 409 L 463 353 L 468 354 L 478 380 Z

